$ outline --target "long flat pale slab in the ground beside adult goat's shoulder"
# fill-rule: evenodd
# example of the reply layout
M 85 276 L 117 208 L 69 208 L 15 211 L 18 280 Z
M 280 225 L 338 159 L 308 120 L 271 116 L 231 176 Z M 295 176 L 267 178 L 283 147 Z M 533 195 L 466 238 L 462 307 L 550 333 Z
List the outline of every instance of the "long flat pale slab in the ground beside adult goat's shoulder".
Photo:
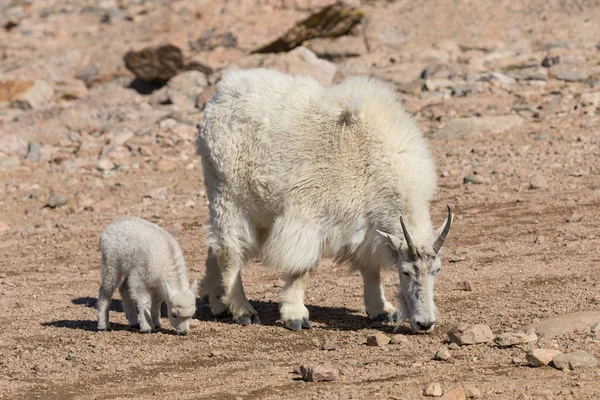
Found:
M 433 136 L 447 139 L 467 139 L 488 134 L 500 134 L 523 124 L 517 115 L 459 118 L 448 121 Z

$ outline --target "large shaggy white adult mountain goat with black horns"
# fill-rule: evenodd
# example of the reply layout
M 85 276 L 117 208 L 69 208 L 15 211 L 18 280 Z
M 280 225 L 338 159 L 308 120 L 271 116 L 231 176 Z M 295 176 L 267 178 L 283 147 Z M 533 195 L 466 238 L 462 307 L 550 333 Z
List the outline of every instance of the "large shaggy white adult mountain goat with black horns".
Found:
M 440 248 L 429 202 L 435 164 L 393 90 L 369 78 L 325 88 L 266 69 L 226 73 L 198 137 L 211 233 L 200 296 L 214 315 L 259 323 L 242 286 L 248 258 L 286 276 L 280 313 L 310 328 L 304 291 L 326 254 L 362 273 L 367 314 L 431 332 Z M 385 298 L 382 267 L 396 264 L 400 312 Z

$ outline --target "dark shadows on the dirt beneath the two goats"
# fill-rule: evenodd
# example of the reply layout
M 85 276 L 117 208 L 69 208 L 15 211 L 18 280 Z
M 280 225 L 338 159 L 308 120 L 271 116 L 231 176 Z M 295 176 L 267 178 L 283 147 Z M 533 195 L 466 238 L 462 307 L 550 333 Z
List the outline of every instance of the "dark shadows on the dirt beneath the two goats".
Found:
M 78 297 L 71 300 L 73 304 L 82 305 L 90 308 L 96 308 L 97 299 L 95 297 Z M 268 326 L 281 326 L 283 323 L 279 319 L 279 304 L 272 301 L 254 300 L 250 304 L 258 312 L 261 324 Z M 310 320 L 319 323 L 318 329 L 323 330 L 341 330 L 341 331 L 357 331 L 361 329 L 376 328 L 384 332 L 392 333 L 393 324 L 383 324 L 381 326 L 373 326 L 373 321 L 365 315 L 357 314 L 357 310 L 346 307 L 322 307 L 317 305 L 307 304 L 306 307 L 310 312 Z M 196 315 L 195 318 L 201 321 L 218 321 L 220 323 L 233 324 L 231 316 L 217 318 L 210 312 L 207 303 L 202 299 L 196 299 Z M 112 299 L 110 303 L 111 312 L 123 312 L 123 304 L 119 299 Z M 161 305 L 161 318 L 167 317 L 167 306 L 165 303 Z M 322 324 L 322 325 L 321 325 Z M 55 326 L 60 328 L 83 329 L 87 331 L 96 330 L 96 320 L 62 320 L 53 321 L 43 324 L 44 326 Z M 111 322 L 112 330 L 127 330 L 129 327 L 124 324 Z M 400 333 L 408 333 L 409 330 L 401 329 Z

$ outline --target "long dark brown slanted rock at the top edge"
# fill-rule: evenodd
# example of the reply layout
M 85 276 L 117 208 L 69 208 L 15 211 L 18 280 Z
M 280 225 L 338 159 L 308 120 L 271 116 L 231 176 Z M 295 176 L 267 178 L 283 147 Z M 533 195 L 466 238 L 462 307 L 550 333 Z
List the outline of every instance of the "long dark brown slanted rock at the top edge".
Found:
M 300 46 L 306 40 L 345 35 L 360 22 L 363 16 L 364 12 L 361 10 L 344 1 L 338 1 L 309 15 L 282 36 L 254 50 L 253 53 L 287 52 Z

